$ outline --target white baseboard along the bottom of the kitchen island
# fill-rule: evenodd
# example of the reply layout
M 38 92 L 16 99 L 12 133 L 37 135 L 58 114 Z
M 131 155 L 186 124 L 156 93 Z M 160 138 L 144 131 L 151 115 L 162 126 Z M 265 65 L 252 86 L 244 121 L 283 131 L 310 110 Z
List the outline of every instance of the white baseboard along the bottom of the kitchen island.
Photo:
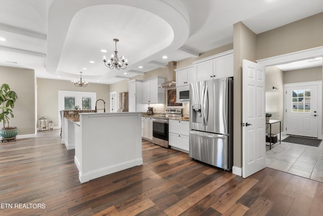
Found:
M 112 174 L 112 173 L 117 172 L 117 171 L 128 169 L 128 168 L 131 168 L 133 166 L 142 165 L 142 162 L 143 162 L 142 158 L 137 158 L 137 159 L 134 159 L 134 160 L 129 160 L 129 161 L 123 162 L 123 163 L 114 164 L 114 165 L 111 165 L 111 166 L 106 166 L 106 167 L 103 167 L 103 168 L 100 168 L 100 169 L 92 170 L 92 171 L 89 171 L 89 172 L 87 172 L 85 174 L 82 174 L 82 172 L 79 171 L 79 180 L 80 180 L 81 183 L 88 182 L 88 181 L 90 181 L 92 179 L 96 179 L 96 178 L 99 178 L 99 177 L 102 177 L 102 176 L 106 176 L 106 175 Z

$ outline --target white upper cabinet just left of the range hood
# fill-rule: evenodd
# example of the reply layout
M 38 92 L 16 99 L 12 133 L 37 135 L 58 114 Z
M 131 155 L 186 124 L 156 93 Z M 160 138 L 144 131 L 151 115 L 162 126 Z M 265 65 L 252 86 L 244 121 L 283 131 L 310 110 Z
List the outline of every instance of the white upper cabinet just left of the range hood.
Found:
M 158 88 L 158 84 L 165 82 L 165 77 L 153 77 L 142 81 L 142 103 L 165 103 L 165 89 Z

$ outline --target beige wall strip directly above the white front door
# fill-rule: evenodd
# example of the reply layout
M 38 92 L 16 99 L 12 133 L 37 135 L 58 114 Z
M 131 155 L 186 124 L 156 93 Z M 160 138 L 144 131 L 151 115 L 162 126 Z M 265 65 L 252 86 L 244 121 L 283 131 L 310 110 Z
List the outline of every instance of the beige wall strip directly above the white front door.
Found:
M 322 66 L 289 70 L 284 72 L 284 83 L 309 82 L 322 80 Z

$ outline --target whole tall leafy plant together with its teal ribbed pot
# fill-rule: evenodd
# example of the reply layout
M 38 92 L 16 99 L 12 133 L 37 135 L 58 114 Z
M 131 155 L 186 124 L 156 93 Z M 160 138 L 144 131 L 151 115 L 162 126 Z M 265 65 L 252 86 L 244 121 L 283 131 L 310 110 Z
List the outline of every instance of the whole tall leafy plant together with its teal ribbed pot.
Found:
M 18 96 L 14 91 L 10 90 L 9 84 L 4 83 L 0 87 L 0 122 L 3 121 L 4 127 L 0 130 L 0 136 L 3 140 L 16 139 L 18 128 L 9 125 L 9 119 L 14 117 L 12 108 Z M 6 126 L 6 124 L 8 126 Z

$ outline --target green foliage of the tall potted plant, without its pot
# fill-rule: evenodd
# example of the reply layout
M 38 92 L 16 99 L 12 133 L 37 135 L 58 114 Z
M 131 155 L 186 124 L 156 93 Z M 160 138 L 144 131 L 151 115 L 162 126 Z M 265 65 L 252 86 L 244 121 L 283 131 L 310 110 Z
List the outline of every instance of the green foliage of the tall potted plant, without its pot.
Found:
M 9 84 L 4 83 L 0 87 L 0 121 L 4 122 L 4 127 L 6 127 L 6 123 L 8 123 L 9 127 L 9 119 L 14 117 L 12 112 L 12 108 L 15 107 L 15 102 L 18 96 L 14 91 L 10 90 Z

